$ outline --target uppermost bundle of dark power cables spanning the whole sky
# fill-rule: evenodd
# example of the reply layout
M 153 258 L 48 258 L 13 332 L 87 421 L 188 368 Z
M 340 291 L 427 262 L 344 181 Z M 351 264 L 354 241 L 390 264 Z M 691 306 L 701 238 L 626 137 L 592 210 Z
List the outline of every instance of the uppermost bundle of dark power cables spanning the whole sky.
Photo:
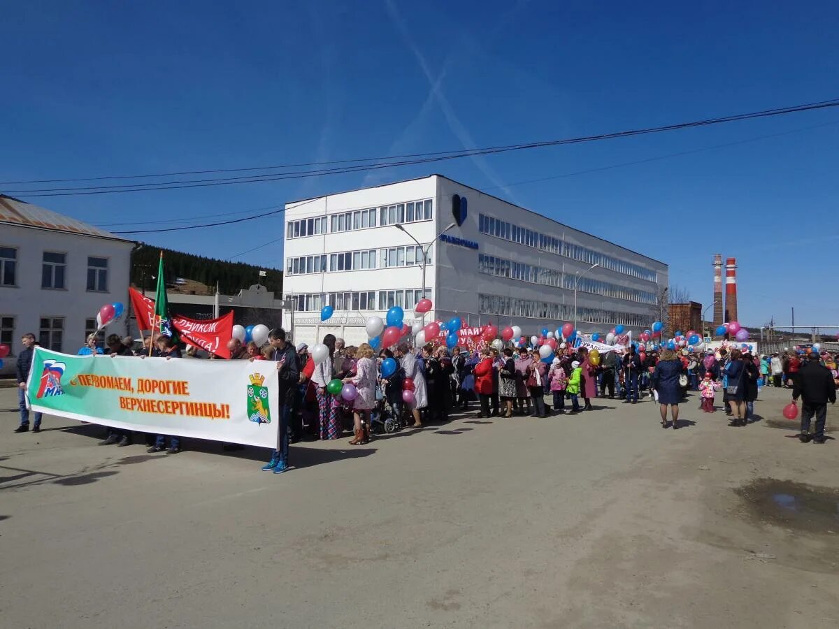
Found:
M 664 133 L 668 131 L 675 131 L 691 127 L 705 127 L 710 125 L 722 124 L 725 122 L 739 122 L 743 120 L 751 120 L 759 117 L 774 117 L 796 112 L 807 112 L 818 109 L 825 109 L 828 107 L 839 106 L 839 99 L 831 101 L 820 101 L 815 103 L 808 103 L 805 105 L 797 105 L 794 107 L 780 107 L 775 109 L 763 110 L 761 112 L 749 112 L 743 114 L 736 114 L 732 116 L 716 117 L 706 120 L 699 120 L 693 122 L 680 122 L 678 124 L 666 125 L 662 127 L 648 127 L 641 129 L 632 129 L 628 131 L 603 133 L 594 136 L 584 136 L 581 138 L 566 138 L 561 140 L 549 140 L 543 142 L 511 144 L 506 146 L 475 148 L 467 149 L 459 152 L 447 151 L 440 153 L 414 153 L 414 156 L 421 159 L 401 159 L 401 161 L 384 161 L 383 163 L 370 163 L 367 160 L 365 164 L 354 164 L 351 166 L 341 166 L 331 169 L 320 170 L 305 170 L 292 171 L 286 173 L 273 174 L 257 174 L 241 177 L 227 177 L 227 178 L 211 178 L 211 179 L 181 179 L 169 182 L 153 182 L 150 184 L 127 184 L 127 185 L 109 185 L 109 186 L 81 186 L 73 188 L 48 188 L 48 189 L 33 189 L 33 190 L 11 190 L 10 195 L 29 195 L 34 197 L 43 196 L 68 196 L 68 195 L 101 195 L 113 194 L 117 192 L 140 192 L 143 190 L 180 190 L 184 188 L 206 187 L 215 185 L 236 185 L 244 183 L 256 183 L 261 181 L 276 181 L 280 179 L 302 179 L 306 177 L 325 176 L 329 174 L 346 174 L 355 173 L 366 170 L 393 168 L 395 166 L 405 166 L 414 164 L 429 164 L 432 162 L 439 162 L 448 159 L 461 159 L 464 157 L 471 157 L 476 155 L 487 155 L 492 153 L 506 153 L 509 151 L 526 150 L 530 148 L 545 148 L 550 146 L 562 146 L 566 144 L 595 142 L 598 140 L 613 139 L 613 138 L 628 138 L 636 135 L 645 135 L 649 133 Z M 408 156 L 413 157 L 413 156 Z M 381 158 L 377 161 L 382 162 Z M 346 164 L 348 162 L 363 161 L 357 160 L 343 160 L 342 162 L 333 162 L 331 164 Z M 254 169 L 261 169 L 263 167 L 254 167 Z M 268 168 L 268 167 L 264 167 Z M 220 171 L 221 172 L 221 171 Z M 229 172 L 229 171 L 228 171 Z

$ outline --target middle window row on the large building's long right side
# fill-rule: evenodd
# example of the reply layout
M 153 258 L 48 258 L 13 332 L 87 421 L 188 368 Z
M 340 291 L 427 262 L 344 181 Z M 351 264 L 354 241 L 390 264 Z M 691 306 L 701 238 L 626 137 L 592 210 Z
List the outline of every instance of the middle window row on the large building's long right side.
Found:
M 517 263 L 501 257 L 478 255 L 478 272 L 495 275 L 499 278 L 519 279 L 523 282 L 544 284 L 574 290 L 575 275 L 563 274 L 553 268 L 536 267 L 532 264 Z M 602 282 L 599 279 L 580 278 L 577 289 L 583 293 L 593 293 L 613 299 L 626 299 L 641 304 L 654 304 L 655 293 L 649 290 L 630 289 L 620 284 Z

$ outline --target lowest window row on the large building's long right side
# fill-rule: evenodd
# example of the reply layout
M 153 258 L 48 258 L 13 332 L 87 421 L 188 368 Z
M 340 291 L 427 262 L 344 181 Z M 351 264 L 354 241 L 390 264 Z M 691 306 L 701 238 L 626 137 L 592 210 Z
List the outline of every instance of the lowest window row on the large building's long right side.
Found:
M 478 308 L 481 314 L 498 314 L 524 319 L 567 321 L 574 317 L 574 306 L 570 304 L 553 304 L 547 301 L 517 299 L 501 295 L 478 294 Z M 599 308 L 578 308 L 577 320 L 587 323 L 641 327 L 648 323 L 649 315 Z

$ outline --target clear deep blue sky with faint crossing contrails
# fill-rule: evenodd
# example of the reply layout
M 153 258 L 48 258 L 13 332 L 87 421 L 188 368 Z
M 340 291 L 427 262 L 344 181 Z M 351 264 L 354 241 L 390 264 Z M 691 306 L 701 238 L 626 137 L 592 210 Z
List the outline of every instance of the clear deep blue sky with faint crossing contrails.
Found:
M 3 23 L 3 181 L 472 148 L 839 96 L 839 6 L 829 2 L 36 0 L 7 3 Z M 670 263 L 671 283 L 702 304 L 712 255 L 737 257 L 745 324 L 773 314 L 789 324 L 793 306 L 799 324 L 830 324 L 837 140 L 839 109 L 372 174 L 20 196 L 109 225 L 439 171 Z M 664 159 L 560 176 L 653 158 Z M 275 216 L 138 238 L 226 258 L 281 235 Z M 279 268 L 282 249 L 237 259 Z

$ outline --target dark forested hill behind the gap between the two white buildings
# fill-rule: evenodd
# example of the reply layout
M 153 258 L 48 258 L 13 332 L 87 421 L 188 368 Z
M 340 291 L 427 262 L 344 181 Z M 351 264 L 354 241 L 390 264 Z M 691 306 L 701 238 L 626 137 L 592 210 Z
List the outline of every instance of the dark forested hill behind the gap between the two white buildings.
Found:
M 263 284 L 268 290 L 273 291 L 279 298 L 283 291 L 283 273 L 277 268 L 254 267 L 253 264 L 232 263 L 224 260 L 216 260 L 212 257 L 195 256 L 191 253 L 182 253 L 143 245 L 133 252 L 131 259 L 131 282 L 141 287 L 143 273 L 145 274 L 145 288 L 154 289 L 156 280 L 152 275 L 157 275 L 160 252 L 163 251 L 164 268 L 166 269 L 166 283 L 171 285 L 175 278 L 193 279 L 207 286 L 215 287 L 219 284 L 221 294 L 237 294 L 240 289 L 247 289 L 251 284 Z M 259 270 L 267 271 L 267 276 L 259 278 Z

